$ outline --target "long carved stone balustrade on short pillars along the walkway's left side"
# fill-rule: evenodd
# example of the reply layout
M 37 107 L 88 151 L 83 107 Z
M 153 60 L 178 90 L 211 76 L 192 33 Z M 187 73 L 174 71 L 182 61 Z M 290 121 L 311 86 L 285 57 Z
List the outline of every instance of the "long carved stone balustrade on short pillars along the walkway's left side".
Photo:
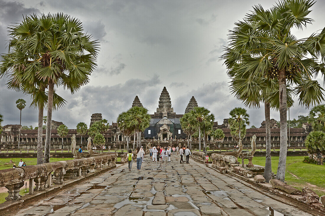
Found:
M 89 172 L 115 165 L 115 159 L 115 154 L 106 154 L 0 170 L 0 187 L 5 186 L 8 189 L 9 195 L 6 200 L 18 200 L 21 197 L 20 188 L 24 186 L 25 180 L 29 179 L 29 194 L 33 194 L 34 190 L 44 191 L 46 187 L 51 187 L 52 172 L 54 183 L 61 185 L 66 179 L 75 179 Z M 35 189 L 33 182 L 35 182 Z

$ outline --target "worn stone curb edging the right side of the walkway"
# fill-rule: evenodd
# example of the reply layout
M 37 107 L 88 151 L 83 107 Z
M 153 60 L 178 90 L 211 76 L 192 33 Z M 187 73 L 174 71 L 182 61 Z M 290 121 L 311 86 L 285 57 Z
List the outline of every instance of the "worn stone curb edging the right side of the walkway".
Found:
M 213 167 L 211 167 L 210 163 L 203 163 L 200 160 L 197 160 L 195 158 L 191 158 L 196 162 L 200 162 L 202 164 L 206 164 L 207 167 L 209 167 L 210 169 L 213 169 L 219 173 L 221 173 L 218 169 L 215 169 Z M 239 181 L 240 183 L 242 183 L 245 186 L 248 186 L 262 194 L 264 194 L 265 196 L 272 198 L 274 200 L 277 200 L 279 202 L 283 202 L 284 200 L 287 201 L 286 204 L 291 205 L 297 209 L 303 210 L 309 214 L 315 215 L 315 216 L 325 216 L 325 207 L 322 206 L 321 203 L 313 203 L 313 204 L 307 204 L 304 203 L 300 198 L 298 197 L 294 197 L 297 195 L 291 195 L 288 193 L 285 193 L 284 191 L 275 189 L 275 188 L 271 188 L 271 187 L 267 187 L 266 185 L 263 185 L 262 183 L 256 183 L 253 180 L 249 179 L 249 178 L 245 178 L 239 174 L 236 173 L 227 173 L 224 174 L 227 175 L 228 177 L 231 177 L 237 181 Z M 232 177 L 233 176 L 233 177 Z M 235 178 L 234 178 L 235 177 Z M 265 183 L 264 183 L 265 184 Z M 256 187 L 253 187 L 256 186 Z M 280 198 L 279 198 L 280 197 Z M 281 199 L 282 198 L 282 199 Z

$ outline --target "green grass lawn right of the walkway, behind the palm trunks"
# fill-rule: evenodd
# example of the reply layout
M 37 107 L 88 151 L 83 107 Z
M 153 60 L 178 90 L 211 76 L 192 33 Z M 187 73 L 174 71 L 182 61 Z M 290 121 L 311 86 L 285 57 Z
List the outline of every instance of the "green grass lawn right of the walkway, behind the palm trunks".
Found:
M 272 172 L 277 173 L 279 157 L 271 157 Z M 319 196 L 325 195 L 325 166 L 303 163 L 303 156 L 288 156 L 285 181 L 298 189 L 305 186 L 313 189 Z M 238 158 L 241 163 L 241 159 Z M 244 160 L 248 163 L 248 159 Z M 253 164 L 265 166 L 265 157 L 254 157 Z

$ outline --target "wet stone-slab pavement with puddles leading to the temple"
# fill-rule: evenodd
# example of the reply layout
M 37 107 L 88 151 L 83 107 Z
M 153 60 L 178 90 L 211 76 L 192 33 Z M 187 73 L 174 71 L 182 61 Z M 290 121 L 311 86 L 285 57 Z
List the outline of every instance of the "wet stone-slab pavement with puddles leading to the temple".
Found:
M 310 215 L 273 200 L 233 178 L 190 159 L 180 164 L 151 162 L 141 171 L 128 165 L 98 175 L 88 182 L 35 202 L 11 215 Z

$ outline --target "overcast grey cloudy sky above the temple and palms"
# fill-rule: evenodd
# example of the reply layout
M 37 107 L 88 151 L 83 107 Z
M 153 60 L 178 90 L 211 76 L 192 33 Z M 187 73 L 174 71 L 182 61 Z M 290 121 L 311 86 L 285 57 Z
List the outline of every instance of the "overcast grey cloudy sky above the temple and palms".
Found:
M 131 107 L 136 95 L 153 114 L 160 93 L 166 86 L 177 114 L 184 114 L 192 96 L 199 106 L 215 114 L 218 124 L 229 117 L 229 111 L 244 106 L 229 94 L 228 78 L 219 61 L 227 45 L 227 31 L 242 19 L 253 5 L 269 8 L 273 1 L 4 1 L 0 0 L 0 53 L 7 52 L 7 26 L 31 13 L 67 13 L 79 18 L 85 31 L 100 41 L 98 68 L 90 82 L 71 95 L 59 88 L 67 104 L 53 113 L 53 120 L 69 128 L 78 122 L 88 126 L 93 113 L 102 113 L 108 121 Z M 307 37 L 325 26 L 325 3 L 318 1 L 310 17 L 315 20 L 306 30 L 294 30 Z M 38 111 L 30 109 L 29 96 L 6 89 L 6 78 L 0 80 L 0 113 L 3 125 L 19 124 L 15 101 L 23 98 L 22 125 L 37 126 Z M 308 113 L 298 103 L 290 110 L 291 119 Z M 251 124 L 259 127 L 264 120 L 264 106 L 248 109 Z M 46 115 L 46 111 L 44 112 Z M 279 113 L 271 111 L 279 120 Z

